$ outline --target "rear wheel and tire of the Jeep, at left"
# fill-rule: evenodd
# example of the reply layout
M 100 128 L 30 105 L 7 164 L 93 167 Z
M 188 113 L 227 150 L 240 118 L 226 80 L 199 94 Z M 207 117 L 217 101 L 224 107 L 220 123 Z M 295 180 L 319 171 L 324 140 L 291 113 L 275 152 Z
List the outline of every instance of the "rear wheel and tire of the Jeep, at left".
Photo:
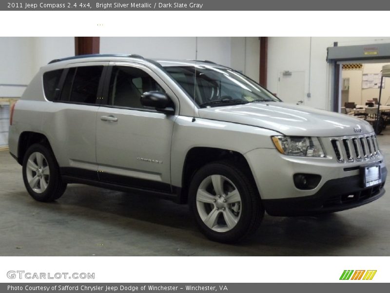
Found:
M 23 181 L 28 193 L 37 201 L 51 202 L 65 192 L 57 160 L 50 148 L 40 144 L 30 146 L 23 158 Z

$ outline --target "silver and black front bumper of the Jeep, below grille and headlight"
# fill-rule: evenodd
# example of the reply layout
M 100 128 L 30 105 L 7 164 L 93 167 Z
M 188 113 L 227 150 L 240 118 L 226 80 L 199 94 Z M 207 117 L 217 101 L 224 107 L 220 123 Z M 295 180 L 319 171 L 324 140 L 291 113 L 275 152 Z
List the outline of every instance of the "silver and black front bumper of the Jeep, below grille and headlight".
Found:
M 369 203 L 384 193 L 387 169 L 382 154 L 353 163 L 338 163 L 330 155 L 326 158 L 286 156 L 276 149 L 254 149 L 244 156 L 265 209 L 271 215 L 303 215 L 351 209 Z M 382 183 L 372 189 L 362 188 L 360 168 L 372 164 L 381 167 Z M 293 182 L 294 174 L 299 173 L 320 175 L 321 180 L 313 189 L 299 189 Z

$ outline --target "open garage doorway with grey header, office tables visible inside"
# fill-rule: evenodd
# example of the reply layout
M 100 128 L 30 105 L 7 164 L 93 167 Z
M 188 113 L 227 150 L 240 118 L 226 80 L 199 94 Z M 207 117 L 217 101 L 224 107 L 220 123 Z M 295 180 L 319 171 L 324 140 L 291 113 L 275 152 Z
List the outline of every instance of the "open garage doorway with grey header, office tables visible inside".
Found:
M 333 75 L 331 109 L 363 119 L 374 129 L 382 129 L 382 126 L 376 127 L 378 120 L 384 119 L 386 123 L 381 122 L 383 125 L 390 121 L 389 81 L 383 79 L 381 88 L 382 67 L 390 64 L 390 43 L 341 47 L 337 43 L 334 45 L 328 48 L 327 56 Z

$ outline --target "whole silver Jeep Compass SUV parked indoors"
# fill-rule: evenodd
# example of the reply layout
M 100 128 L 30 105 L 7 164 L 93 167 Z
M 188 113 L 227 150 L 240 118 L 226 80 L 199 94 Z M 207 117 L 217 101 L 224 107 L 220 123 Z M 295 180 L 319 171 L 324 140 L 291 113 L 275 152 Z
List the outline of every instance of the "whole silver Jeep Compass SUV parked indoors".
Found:
M 89 55 L 42 67 L 12 109 L 11 154 L 33 198 L 68 183 L 189 203 L 210 239 L 236 241 L 270 215 L 367 204 L 387 169 L 365 121 L 282 103 L 200 61 Z

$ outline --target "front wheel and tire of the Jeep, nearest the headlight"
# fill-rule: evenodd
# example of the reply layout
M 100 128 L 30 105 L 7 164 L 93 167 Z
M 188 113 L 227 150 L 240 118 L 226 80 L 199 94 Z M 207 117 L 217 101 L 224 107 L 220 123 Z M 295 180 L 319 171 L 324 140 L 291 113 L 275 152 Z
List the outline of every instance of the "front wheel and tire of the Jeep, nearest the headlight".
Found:
M 209 239 L 238 242 L 254 233 L 264 207 L 247 167 L 229 161 L 196 171 L 189 188 L 189 204 L 199 229 Z

